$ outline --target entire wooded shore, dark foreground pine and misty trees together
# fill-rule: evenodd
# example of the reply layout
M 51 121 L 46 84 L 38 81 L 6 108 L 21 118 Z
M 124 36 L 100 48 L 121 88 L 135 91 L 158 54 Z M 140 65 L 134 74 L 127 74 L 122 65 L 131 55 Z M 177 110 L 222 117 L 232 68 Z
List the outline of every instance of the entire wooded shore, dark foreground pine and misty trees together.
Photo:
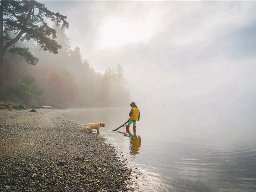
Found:
M 0 2 L 1 102 L 54 108 L 130 102 L 121 64 L 96 72 L 79 47 L 72 49 L 65 16 L 36 1 Z

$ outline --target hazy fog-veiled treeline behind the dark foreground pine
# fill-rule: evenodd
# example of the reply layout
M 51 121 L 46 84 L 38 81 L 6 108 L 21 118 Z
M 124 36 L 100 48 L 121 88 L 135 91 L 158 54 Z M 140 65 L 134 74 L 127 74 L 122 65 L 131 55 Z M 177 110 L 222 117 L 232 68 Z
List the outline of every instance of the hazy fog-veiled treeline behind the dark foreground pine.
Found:
M 54 27 L 58 54 L 40 50 L 33 40 L 19 42 L 20 47 L 39 59 L 29 65 L 24 57 L 6 53 L 1 77 L 0 100 L 24 105 L 50 105 L 55 108 L 122 106 L 130 102 L 125 88 L 124 68 L 107 68 L 104 74 L 95 72 L 83 60 L 79 47 L 71 48 L 65 30 Z

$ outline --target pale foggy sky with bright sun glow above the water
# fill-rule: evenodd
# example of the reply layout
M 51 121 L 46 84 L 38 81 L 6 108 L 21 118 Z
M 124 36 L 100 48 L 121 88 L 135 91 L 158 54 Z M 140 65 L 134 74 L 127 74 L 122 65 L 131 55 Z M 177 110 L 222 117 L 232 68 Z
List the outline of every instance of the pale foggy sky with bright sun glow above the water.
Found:
M 254 125 L 255 1 L 41 3 L 67 16 L 72 47 L 96 72 L 124 68 L 138 107 L 190 124 Z

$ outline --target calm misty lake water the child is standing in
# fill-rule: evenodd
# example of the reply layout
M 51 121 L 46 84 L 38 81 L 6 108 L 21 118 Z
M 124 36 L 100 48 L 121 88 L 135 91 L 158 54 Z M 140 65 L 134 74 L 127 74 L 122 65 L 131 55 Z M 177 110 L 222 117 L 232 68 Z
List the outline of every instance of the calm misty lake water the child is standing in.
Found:
M 111 132 L 130 109 L 74 109 L 63 116 L 106 123 L 100 134 L 138 172 L 135 191 L 256 191 L 255 126 L 181 125 L 166 108 L 140 108 L 137 138 L 125 136 L 125 127 Z

